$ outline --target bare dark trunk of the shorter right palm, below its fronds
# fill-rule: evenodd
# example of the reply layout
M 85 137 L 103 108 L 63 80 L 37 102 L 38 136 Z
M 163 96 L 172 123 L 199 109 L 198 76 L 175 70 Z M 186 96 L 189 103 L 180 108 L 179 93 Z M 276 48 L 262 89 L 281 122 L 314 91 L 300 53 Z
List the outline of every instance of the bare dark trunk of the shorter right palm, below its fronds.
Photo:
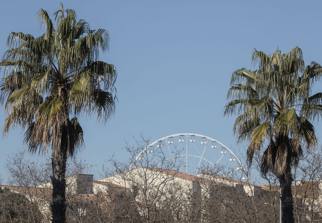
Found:
M 282 222 L 294 223 L 293 217 L 293 197 L 292 197 L 292 177 L 282 176 L 279 178 L 282 203 Z

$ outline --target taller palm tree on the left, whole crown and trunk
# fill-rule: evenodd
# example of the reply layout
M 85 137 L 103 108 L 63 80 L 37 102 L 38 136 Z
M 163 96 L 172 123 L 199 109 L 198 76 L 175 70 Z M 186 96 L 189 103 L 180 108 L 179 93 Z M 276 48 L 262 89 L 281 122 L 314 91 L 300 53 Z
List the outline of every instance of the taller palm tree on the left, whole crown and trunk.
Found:
M 65 222 L 66 160 L 83 147 L 77 117 L 97 114 L 105 124 L 114 114 L 116 70 L 99 61 L 99 53 L 109 50 L 106 30 L 91 30 L 62 4 L 53 15 L 56 28 L 46 11 L 38 11 L 42 36 L 9 35 L 0 101 L 7 112 L 4 134 L 20 126 L 30 152 L 51 152 L 52 222 Z

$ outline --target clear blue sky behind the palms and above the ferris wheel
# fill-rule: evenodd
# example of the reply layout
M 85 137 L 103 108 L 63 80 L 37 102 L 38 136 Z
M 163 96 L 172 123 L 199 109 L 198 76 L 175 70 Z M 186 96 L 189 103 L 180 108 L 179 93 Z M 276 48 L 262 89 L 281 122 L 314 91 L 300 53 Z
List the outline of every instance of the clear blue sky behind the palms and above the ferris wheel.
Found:
M 223 117 L 231 74 L 251 69 L 253 48 L 288 52 L 298 45 L 305 58 L 322 63 L 320 1 L 63 1 L 92 29 L 110 33 L 110 52 L 100 60 L 113 63 L 119 102 L 105 126 L 81 120 L 86 148 L 79 158 L 100 169 L 125 140 L 143 132 L 155 141 L 180 132 L 203 134 L 238 150 L 232 134 L 234 118 Z M 0 53 L 10 32 L 38 36 L 36 13 L 50 15 L 59 1 L 2 1 Z M 322 85 L 316 85 L 321 91 Z M 0 108 L 0 124 L 5 121 Z M 317 135 L 322 123 L 316 125 Z M 5 177 L 9 151 L 22 148 L 22 133 L 0 139 L 0 174 Z M 240 154 L 237 154 L 240 155 Z M 40 159 L 35 156 L 33 159 Z

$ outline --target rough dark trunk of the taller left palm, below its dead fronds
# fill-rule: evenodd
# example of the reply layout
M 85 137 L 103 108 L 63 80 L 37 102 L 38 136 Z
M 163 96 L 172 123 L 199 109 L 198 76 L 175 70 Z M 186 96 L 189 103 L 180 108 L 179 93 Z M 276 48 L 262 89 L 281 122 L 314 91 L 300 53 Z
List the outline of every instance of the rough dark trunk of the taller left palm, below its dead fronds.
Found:
M 52 158 L 52 222 L 65 223 L 66 156 Z

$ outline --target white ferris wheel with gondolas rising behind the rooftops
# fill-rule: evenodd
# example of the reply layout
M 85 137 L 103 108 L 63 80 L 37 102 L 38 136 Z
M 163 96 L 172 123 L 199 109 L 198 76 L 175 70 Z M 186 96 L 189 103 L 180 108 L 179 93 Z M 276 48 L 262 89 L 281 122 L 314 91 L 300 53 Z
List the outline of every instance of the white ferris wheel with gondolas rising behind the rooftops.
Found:
M 157 152 L 165 154 L 162 160 L 156 155 Z M 178 133 L 162 137 L 138 152 L 131 168 L 137 162 L 144 165 L 147 161 L 153 161 L 159 168 L 163 161 L 173 161 L 174 166 L 178 163 L 177 170 L 190 174 L 198 174 L 203 167 L 218 168 L 221 175 L 235 173 L 246 179 L 245 168 L 231 149 L 218 140 L 200 134 Z

